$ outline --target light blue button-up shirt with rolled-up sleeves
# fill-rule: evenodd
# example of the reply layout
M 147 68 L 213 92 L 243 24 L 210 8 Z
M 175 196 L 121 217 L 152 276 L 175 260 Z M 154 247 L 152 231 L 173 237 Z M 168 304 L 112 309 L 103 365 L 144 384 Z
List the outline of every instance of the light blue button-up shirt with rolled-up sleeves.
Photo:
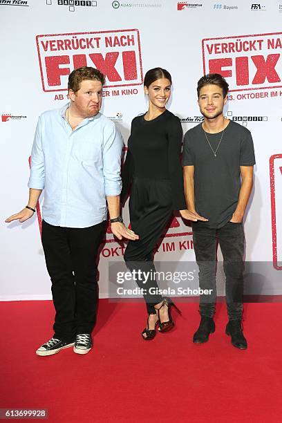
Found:
M 42 215 L 50 225 L 89 227 L 106 220 L 106 196 L 120 195 L 122 137 L 101 113 L 72 131 L 67 107 L 39 117 L 28 187 L 44 189 Z

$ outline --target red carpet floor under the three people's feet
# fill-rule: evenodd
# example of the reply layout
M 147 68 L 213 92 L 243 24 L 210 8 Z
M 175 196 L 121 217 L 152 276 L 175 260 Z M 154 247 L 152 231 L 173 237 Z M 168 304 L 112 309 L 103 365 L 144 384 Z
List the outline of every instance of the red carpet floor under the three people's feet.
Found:
M 197 304 L 178 305 L 176 330 L 145 342 L 142 303 L 100 300 L 91 353 L 37 357 L 52 336 L 52 303 L 0 303 L 0 408 L 48 408 L 49 423 L 280 422 L 282 304 L 245 304 L 245 351 L 224 334 L 223 303 L 202 346 L 191 342 Z

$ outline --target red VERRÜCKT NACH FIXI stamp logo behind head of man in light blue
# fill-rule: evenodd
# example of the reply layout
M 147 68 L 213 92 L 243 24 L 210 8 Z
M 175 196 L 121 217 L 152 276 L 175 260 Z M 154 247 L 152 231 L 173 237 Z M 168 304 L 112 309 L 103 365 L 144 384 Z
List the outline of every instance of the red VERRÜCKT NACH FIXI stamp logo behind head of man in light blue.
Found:
M 100 69 L 107 87 L 143 82 L 137 29 L 37 35 L 43 91 L 67 91 L 68 75 L 81 66 Z

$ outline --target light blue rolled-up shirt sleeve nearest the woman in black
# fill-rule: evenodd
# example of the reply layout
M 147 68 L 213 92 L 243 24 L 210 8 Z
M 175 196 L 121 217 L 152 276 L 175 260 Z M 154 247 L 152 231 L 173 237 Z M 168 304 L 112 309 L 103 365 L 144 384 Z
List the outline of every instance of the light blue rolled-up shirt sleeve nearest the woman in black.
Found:
M 122 135 L 113 124 L 104 130 L 103 173 L 106 196 L 119 196 L 122 190 L 120 168 L 122 162 Z

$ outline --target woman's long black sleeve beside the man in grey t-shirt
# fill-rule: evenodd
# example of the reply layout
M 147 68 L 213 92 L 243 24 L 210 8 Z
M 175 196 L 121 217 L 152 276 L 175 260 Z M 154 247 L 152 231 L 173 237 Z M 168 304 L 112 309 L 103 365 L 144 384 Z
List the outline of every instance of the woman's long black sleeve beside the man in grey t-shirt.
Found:
M 183 171 L 180 163 L 182 126 L 178 118 L 168 122 L 167 137 L 169 141 L 169 175 L 171 179 L 173 210 L 186 209 L 183 187 Z

